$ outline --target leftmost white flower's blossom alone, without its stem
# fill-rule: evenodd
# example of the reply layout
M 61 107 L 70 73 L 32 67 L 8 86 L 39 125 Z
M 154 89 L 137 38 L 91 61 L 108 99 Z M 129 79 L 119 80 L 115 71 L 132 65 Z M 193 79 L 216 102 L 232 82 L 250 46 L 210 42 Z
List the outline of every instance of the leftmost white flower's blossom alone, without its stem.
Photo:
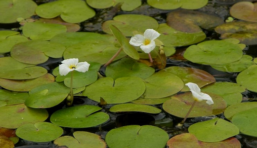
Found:
M 60 75 L 67 75 L 69 72 L 74 70 L 82 73 L 88 71 L 90 64 L 88 64 L 87 62 L 78 62 L 79 59 L 76 58 L 63 60 L 62 64 L 59 65 Z

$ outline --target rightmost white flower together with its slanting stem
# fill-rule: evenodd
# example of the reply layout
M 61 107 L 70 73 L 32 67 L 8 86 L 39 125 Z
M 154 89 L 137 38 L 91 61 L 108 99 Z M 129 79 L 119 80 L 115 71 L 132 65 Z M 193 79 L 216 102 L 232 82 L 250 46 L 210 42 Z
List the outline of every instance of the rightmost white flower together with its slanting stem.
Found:
M 194 103 L 192 104 L 191 108 L 189 109 L 189 111 L 187 112 L 186 116 L 184 117 L 183 121 L 181 121 L 178 125 L 182 126 L 184 124 L 184 122 L 186 121 L 186 118 L 188 117 L 189 113 L 192 111 L 193 107 L 195 106 L 196 102 L 201 102 L 203 100 L 207 100 L 206 103 L 208 105 L 212 105 L 214 104 L 213 99 L 211 96 L 209 96 L 206 93 L 202 93 L 201 89 L 199 88 L 199 86 L 196 83 L 186 83 L 186 86 L 189 87 L 190 91 L 192 92 L 192 96 L 194 98 Z

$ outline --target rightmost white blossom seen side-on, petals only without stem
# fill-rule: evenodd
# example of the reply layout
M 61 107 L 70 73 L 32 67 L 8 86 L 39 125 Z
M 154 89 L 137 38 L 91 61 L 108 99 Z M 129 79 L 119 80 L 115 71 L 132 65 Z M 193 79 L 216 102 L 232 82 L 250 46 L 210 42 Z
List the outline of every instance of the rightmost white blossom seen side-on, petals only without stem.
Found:
M 200 102 L 203 100 L 207 100 L 206 101 L 207 104 L 209 104 L 209 105 L 214 104 L 213 99 L 208 94 L 202 93 L 201 89 L 199 88 L 199 86 L 197 84 L 189 82 L 189 83 L 186 83 L 185 85 L 190 88 L 193 98 L 196 101 Z

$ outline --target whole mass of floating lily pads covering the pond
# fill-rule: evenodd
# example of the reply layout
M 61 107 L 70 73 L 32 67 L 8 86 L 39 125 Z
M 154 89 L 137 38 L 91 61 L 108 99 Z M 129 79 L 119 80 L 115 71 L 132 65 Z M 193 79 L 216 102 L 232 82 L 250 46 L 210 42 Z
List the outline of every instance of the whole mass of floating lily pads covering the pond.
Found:
M 33 142 L 54 140 L 55 145 L 68 148 L 106 148 L 107 145 L 109 148 L 164 148 L 166 145 L 169 148 L 184 148 L 184 145 L 240 148 L 240 142 L 233 136 L 241 133 L 257 137 L 257 104 L 241 103 L 241 93 L 246 89 L 257 92 L 257 59 L 243 54 L 245 44 L 256 44 L 256 3 L 238 2 L 230 9 L 231 16 L 251 22 L 229 23 L 217 16 L 192 10 L 205 6 L 208 0 L 147 0 L 147 3 L 158 9 L 177 10 L 168 13 L 167 23 L 161 24 L 146 15 L 117 15 L 103 22 L 102 31 L 106 34 L 98 34 L 77 32 L 80 26 L 75 23 L 94 17 L 93 8 L 104 9 L 120 4 L 123 11 L 132 11 L 140 7 L 141 0 L 56 0 L 40 5 L 32 0 L 1 0 L 0 23 L 23 22 L 20 22 L 22 34 L 0 31 L 0 53 L 10 54 L 0 58 L 0 86 L 4 88 L 0 89 L 0 118 L 4 119 L 0 121 L 0 133 L 4 133 L 1 129 L 16 129 L 19 138 Z M 26 22 L 34 13 L 40 18 Z M 147 62 L 148 55 L 131 46 L 128 40 L 149 28 L 161 34 L 151 52 L 154 64 Z M 202 29 L 214 29 L 221 34 L 222 40 L 203 41 L 206 35 Z M 175 53 L 175 47 L 181 46 L 188 46 L 183 54 L 188 61 L 210 65 L 222 72 L 238 72 L 237 83 L 215 82 L 212 74 L 196 68 L 165 68 L 166 57 Z M 106 67 L 105 76 L 99 76 L 101 65 L 119 49 L 122 49 L 121 53 Z M 117 105 L 111 105 L 108 111 L 99 106 L 79 105 L 60 109 L 49 116 L 46 109 L 65 102 L 71 82 L 70 74 L 59 75 L 58 67 L 50 74 L 38 66 L 49 58 L 88 61 L 88 72 L 75 71 L 73 74 L 74 94 L 100 104 Z M 156 72 L 156 67 L 162 70 Z M 162 110 L 155 105 L 162 105 L 164 111 L 182 118 L 194 102 L 184 85 L 188 82 L 197 83 L 214 101 L 211 106 L 205 102 L 197 103 L 189 117 L 224 113 L 231 122 L 218 117 L 198 122 L 188 128 L 189 133 L 170 140 L 165 130 L 152 125 L 112 129 L 105 141 L 84 131 L 60 137 L 63 134 L 61 127 L 99 126 L 110 120 L 110 112 L 158 114 Z M 51 123 L 46 122 L 47 118 Z M 5 147 L 13 148 L 18 138 L 15 135 L 7 137 L 9 139 L 0 134 Z

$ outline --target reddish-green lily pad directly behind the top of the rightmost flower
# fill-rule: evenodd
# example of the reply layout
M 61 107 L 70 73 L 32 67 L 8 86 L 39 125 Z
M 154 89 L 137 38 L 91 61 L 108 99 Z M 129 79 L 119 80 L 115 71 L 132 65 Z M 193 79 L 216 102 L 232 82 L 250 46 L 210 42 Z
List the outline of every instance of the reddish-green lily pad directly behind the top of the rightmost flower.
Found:
M 177 75 L 185 84 L 196 83 L 200 88 L 216 81 L 212 74 L 195 68 L 171 66 L 162 71 Z M 184 85 L 181 91 L 189 91 L 189 88 Z

